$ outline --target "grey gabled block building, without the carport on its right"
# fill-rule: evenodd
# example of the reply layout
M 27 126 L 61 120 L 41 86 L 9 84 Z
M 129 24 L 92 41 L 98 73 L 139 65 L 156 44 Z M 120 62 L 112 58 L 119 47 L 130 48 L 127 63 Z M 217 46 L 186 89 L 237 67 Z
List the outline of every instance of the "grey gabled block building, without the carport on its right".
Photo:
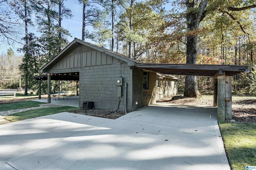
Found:
M 137 68 L 137 64 L 140 62 L 75 38 L 40 71 L 49 80 L 79 81 L 80 107 L 94 102 L 96 109 L 130 112 L 153 104 L 157 96 L 157 73 Z M 35 78 L 43 80 L 46 75 Z

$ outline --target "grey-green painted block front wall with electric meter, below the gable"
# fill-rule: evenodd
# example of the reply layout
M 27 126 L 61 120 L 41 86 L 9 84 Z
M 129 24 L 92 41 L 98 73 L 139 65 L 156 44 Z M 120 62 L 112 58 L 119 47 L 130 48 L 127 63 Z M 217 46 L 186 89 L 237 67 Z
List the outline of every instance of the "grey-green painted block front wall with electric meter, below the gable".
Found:
M 131 69 L 127 63 L 120 62 L 108 65 L 96 65 L 82 67 L 80 70 L 80 107 L 84 101 L 94 102 L 94 109 L 116 110 L 120 101 L 118 111 L 124 111 L 124 85 L 122 86 L 122 97 L 117 97 L 116 81 L 123 77 L 123 83 L 127 87 L 127 111 L 131 110 L 130 101 L 130 77 Z

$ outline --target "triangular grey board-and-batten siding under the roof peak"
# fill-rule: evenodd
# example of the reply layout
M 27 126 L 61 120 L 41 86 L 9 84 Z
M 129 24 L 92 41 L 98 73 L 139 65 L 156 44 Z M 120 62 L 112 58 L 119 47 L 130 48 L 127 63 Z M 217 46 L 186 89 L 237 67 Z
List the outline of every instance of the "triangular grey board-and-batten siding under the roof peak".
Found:
M 79 45 L 70 53 L 62 57 L 49 70 L 51 72 L 60 69 L 86 67 L 92 65 L 105 65 L 118 63 L 119 60 L 115 57 L 107 55 L 103 52 L 96 51 L 86 45 Z

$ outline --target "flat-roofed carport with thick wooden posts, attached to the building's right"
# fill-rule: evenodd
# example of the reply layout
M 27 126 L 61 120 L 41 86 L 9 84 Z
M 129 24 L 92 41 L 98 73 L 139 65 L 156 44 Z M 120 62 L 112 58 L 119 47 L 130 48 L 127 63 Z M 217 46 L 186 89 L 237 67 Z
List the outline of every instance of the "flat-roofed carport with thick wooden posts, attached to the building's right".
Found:
M 248 71 L 246 65 L 144 63 L 137 67 L 162 74 L 214 77 L 213 106 L 218 106 L 221 121 L 232 119 L 232 76 Z

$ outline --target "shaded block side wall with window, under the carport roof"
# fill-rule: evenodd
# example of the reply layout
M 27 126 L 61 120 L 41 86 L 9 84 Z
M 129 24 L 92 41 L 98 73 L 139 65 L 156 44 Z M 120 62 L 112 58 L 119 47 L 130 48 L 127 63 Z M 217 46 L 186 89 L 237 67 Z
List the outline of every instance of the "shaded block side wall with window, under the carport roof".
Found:
M 134 69 L 133 70 L 133 99 L 132 99 L 132 108 L 133 110 L 146 107 L 150 104 L 150 96 L 154 95 L 154 88 L 156 84 L 156 73 L 149 72 L 149 89 L 142 89 L 142 79 L 143 79 L 143 70 Z M 135 105 L 135 102 L 138 101 L 138 105 Z

